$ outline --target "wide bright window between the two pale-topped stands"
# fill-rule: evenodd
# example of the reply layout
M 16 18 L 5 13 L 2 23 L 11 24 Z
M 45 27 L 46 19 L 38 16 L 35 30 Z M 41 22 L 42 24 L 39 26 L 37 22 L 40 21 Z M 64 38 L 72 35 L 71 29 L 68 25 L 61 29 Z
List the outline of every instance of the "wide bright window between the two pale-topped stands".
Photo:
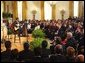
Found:
M 48 3 L 48 1 L 44 2 L 44 16 L 45 16 L 45 20 L 52 19 L 52 7 Z

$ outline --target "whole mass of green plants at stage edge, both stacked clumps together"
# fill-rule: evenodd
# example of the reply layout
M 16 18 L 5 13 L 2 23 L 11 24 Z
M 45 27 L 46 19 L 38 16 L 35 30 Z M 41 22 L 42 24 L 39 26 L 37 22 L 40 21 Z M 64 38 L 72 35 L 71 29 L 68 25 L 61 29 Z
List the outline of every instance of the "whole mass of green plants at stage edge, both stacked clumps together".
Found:
M 30 42 L 30 48 L 34 50 L 36 47 L 41 47 L 41 43 L 45 38 L 45 33 L 41 29 L 36 29 L 32 32 L 34 40 Z

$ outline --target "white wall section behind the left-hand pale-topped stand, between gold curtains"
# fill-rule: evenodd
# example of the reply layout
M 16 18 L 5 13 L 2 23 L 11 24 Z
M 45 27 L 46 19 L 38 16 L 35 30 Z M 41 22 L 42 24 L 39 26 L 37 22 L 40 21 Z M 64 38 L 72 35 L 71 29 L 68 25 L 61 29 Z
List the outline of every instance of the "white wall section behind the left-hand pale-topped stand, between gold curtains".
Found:
M 32 10 L 37 10 L 35 19 L 41 19 L 41 4 L 40 1 L 27 1 L 27 19 L 33 19 Z

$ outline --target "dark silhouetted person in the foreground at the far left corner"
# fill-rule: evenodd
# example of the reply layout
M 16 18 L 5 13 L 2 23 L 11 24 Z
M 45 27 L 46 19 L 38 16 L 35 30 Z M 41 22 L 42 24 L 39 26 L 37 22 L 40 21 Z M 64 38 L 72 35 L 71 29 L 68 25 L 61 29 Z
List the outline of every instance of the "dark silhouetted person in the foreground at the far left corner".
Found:
M 1 61 L 11 62 L 12 53 L 11 53 L 11 42 L 10 41 L 5 42 L 5 48 L 6 48 L 6 51 L 1 52 Z

